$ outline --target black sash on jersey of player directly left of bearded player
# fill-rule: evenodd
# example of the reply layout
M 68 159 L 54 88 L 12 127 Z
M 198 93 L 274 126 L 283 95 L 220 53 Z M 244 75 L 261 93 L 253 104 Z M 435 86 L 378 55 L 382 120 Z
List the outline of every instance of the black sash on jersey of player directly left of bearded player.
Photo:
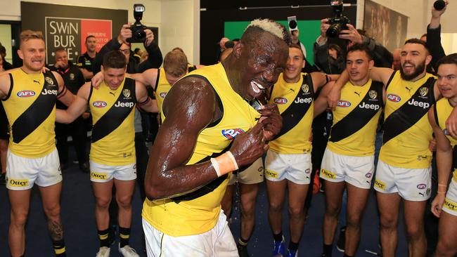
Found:
M 375 91 L 376 95 L 373 95 L 372 91 Z M 361 103 L 366 103 L 368 105 L 377 104 L 379 109 L 361 108 L 359 107 Z M 381 111 L 382 105 L 382 83 L 372 81 L 370 89 L 368 89 L 362 100 L 357 103 L 354 110 L 332 126 L 330 138 L 328 140 L 330 142 L 338 142 L 356 133 L 356 131 L 359 131 L 363 126 L 368 124 L 375 114 Z

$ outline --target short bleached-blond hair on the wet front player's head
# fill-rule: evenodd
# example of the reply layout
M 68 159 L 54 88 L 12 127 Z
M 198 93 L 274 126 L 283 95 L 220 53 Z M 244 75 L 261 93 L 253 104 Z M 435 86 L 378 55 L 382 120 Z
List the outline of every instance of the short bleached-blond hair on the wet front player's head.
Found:
M 270 19 L 256 19 L 252 20 L 248 25 L 241 37 L 241 41 L 257 41 L 259 40 L 262 32 L 269 32 L 273 36 L 285 41 L 286 44 L 290 45 L 290 33 L 287 29 L 278 22 Z

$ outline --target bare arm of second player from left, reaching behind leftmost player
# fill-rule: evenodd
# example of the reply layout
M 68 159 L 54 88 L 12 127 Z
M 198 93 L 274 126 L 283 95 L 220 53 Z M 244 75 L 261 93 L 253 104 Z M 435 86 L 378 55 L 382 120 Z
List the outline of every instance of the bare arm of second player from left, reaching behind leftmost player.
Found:
M 68 124 L 75 121 L 86 110 L 90 91 L 90 82 L 79 88 L 75 100 L 67 110 L 56 109 L 56 122 Z

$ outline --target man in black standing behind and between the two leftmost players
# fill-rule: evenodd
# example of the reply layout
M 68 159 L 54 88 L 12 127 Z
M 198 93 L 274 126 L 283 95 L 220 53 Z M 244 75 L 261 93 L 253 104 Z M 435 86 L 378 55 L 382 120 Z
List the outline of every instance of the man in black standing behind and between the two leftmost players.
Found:
M 64 48 L 58 48 L 54 57 L 56 58 L 56 63 L 53 67 L 51 67 L 51 70 L 58 72 L 62 76 L 63 81 L 65 81 L 67 89 L 76 95 L 79 88 L 85 83 L 82 72 L 79 70 L 77 65 L 68 60 L 67 51 Z M 56 108 L 65 110 L 67 109 L 67 106 L 57 101 Z M 84 125 L 84 118 L 87 119 L 89 114 L 84 117 L 85 114 L 82 114 L 81 117 L 78 117 L 70 124 L 56 123 L 56 146 L 60 159 L 60 167 L 62 169 L 65 169 L 65 166 L 67 166 L 67 137 L 70 134 L 72 136 L 73 145 L 75 145 L 79 169 L 84 172 L 89 172 L 89 164 L 86 154 L 87 135 Z

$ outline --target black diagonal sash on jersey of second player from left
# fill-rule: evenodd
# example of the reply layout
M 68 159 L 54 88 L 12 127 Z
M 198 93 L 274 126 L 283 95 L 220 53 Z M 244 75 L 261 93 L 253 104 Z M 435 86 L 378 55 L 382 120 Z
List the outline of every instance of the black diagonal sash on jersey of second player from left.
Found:
M 129 95 L 127 95 L 127 90 L 129 90 Z M 115 101 L 115 104 L 117 102 L 136 103 L 134 79 L 125 78 L 124 87 L 122 88 L 122 92 L 119 94 L 119 97 Z M 115 107 L 112 105 L 110 110 L 103 114 L 103 116 L 98 119 L 97 123 L 92 126 L 91 142 L 95 143 L 105 136 L 108 136 L 112 131 L 115 131 L 115 129 L 117 129 L 120 124 L 122 124 L 124 119 L 129 116 L 132 109 L 134 109 L 134 107 Z

